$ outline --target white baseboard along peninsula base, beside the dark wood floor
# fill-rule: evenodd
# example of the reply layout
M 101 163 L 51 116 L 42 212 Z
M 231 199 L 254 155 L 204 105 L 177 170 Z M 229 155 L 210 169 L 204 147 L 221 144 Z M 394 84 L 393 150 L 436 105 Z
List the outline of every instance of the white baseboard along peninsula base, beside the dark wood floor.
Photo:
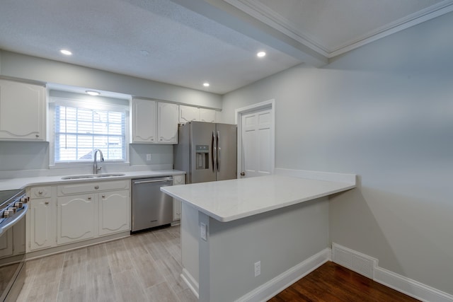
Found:
M 321 252 L 300 262 L 299 265 L 288 269 L 286 272 L 283 272 L 265 284 L 258 286 L 253 291 L 250 291 L 245 296 L 236 300 L 236 302 L 268 301 L 270 298 L 280 293 L 280 291 L 286 289 L 302 277 L 305 277 L 310 272 L 313 272 L 329 260 L 331 260 L 331 249 L 326 248 L 325 250 L 321 250 Z

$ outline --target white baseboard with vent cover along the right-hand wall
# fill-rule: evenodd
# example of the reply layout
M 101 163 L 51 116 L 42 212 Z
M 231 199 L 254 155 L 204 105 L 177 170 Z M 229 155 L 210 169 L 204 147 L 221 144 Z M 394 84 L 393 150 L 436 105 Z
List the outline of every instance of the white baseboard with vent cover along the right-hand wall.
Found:
M 453 302 L 452 295 L 379 267 L 377 259 L 336 243 L 332 261 L 420 301 Z

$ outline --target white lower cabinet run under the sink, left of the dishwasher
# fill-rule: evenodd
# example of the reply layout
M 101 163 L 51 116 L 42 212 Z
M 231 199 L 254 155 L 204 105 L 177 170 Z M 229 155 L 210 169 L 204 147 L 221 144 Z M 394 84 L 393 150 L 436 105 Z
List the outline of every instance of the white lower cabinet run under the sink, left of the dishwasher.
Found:
M 27 252 L 130 231 L 129 189 L 130 180 L 30 187 Z

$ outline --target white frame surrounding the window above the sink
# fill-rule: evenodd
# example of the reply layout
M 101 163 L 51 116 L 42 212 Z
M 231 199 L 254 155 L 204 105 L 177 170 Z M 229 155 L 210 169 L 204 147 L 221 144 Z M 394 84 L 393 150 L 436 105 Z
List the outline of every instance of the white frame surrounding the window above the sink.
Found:
M 52 93 L 52 91 L 51 91 Z M 86 108 L 90 110 L 117 110 L 125 112 L 125 141 L 124 141 L 124 160 L 105 160 L 103 165 L 120 165 L 120 164 L 127 164 L 129 165 L 129 144 L 130 144 L 130 100 L 120 100 L 120 103 L 127 103 L 124 105 L 118 105 L 115 103 L 114 98 L 105 98 L 105 97 L 91 97 L 87 95 L 80 95 L 78 93 L 66 93 L 62 91 L 58 91 L 55 93 L 57 95 L 50 95 L 49 97 L 49 115 L 50 119 L 48 120 L 48 136 L 49 137 L 49 156 L 50 156 L 50 167 L 52 168 L 74 168 L 76 166 L 91 166 L 93 164 L 93 160 L 86 160 L 86 161 L 55 161 L 55 139 L 56 139 L 56 124 L 55 124 L 55 115 L 56 115 L 56 108 L 55 106 L 62 104 L 71 107 L 77 108 Z M 64 96 L 60 96 L 64 95 Z M 65 96 L 69 95 L 69 96 Z M 82 105 L 83 104 L 83 105 Z M 103 151 L 101 149 L 101 151 Z

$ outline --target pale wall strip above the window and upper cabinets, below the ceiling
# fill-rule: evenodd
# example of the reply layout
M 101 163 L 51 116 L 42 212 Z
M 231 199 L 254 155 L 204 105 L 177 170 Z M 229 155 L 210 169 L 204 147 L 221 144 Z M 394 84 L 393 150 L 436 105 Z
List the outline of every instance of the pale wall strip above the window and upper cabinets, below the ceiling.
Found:
M 220 95 L 73 64 L 0 51 L 1 76 L 222 108 Z

